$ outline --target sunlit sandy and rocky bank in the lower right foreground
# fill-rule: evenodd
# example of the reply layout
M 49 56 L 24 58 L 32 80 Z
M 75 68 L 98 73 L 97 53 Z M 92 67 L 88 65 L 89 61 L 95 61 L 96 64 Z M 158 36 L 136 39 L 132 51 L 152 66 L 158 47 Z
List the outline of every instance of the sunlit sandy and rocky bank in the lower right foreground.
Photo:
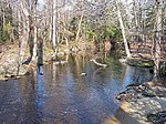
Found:
M 166 123 L 165 79 L 163 82 L 153 81 L 128 85 L 126 91 L 120 93 L 116 99 L 122 101 L 120 110 L 137 121 L 137 124 Z

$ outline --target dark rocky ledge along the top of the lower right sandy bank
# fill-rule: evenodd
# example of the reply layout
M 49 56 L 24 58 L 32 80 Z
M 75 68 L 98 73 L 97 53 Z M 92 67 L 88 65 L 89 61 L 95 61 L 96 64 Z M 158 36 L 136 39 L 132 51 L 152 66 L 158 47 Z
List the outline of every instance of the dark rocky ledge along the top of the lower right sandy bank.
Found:
M 121 101 L 132 101 L 142 97 L 166 97 L 166 87 L 153 82 L 143 84 L 129 84 L 126 90 L 120 93 L 116 99 Z

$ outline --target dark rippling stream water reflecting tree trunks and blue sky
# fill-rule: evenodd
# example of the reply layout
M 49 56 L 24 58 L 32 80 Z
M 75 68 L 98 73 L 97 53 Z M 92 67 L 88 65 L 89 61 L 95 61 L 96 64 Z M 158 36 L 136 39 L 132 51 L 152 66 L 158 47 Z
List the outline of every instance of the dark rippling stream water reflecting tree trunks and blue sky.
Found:
M 120 103 L 114 97 L 126 85 L 152 79 L 148 70 L 114 58 L 106 60 L 106 69 L 89 60 L 70 56 L 68 64 L 52 63 L 23 79 L 0 82 L 0 122 L 102 124 L 116 114 Z

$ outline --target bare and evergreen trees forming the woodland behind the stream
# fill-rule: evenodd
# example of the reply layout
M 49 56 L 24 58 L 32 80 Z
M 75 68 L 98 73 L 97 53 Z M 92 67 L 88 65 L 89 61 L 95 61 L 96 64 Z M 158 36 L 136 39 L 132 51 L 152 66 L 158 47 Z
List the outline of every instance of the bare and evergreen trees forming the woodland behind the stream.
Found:
M 114 48 L 123 44 L 131 58 L 131 42 L 149 40 L 157 72 L 165 11 L 164 0 L 1 0 L 0 43 L 19 41 L 21 64 L 27 48 L 37 61 L 41 41 L 54 55 L 59 44 L 93 42 L 100 51 L 108 41 Z

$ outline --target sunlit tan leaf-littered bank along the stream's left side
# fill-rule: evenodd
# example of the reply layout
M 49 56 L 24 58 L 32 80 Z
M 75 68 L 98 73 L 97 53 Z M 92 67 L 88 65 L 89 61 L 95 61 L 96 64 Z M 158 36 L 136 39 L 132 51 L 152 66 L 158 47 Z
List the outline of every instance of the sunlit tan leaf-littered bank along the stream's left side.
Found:
M 89 52 L 87 52 L 89 51 Z M 70 46 L 65 44 L 60 44 L 58 49 L 58 56 L 64 56 L 70 53 L 80 53 L 80 54 L 89 54 L 93 53 L 94 44 L 92 42 L 84 43 L 71 43 Z M 0 80 L 8 80 L 11 78 L 20 78 L 24 74 L 29 74 L 31 71 L 37 69 L 37 63 L 28 63 L 21 64 L 19 69 L 19 76 L 17 76 L 18 71 L 18 53 L 19 53 L 19 44 L 3 44 L 0 46 Z M 53 56 L 53 50 L 49 48 L 43 49 L 43 64 L 50 63 L 50 61 L 56 61 Z M 24 60 L 25 63 L 30 58 L 29 50 L 25 51 Z

